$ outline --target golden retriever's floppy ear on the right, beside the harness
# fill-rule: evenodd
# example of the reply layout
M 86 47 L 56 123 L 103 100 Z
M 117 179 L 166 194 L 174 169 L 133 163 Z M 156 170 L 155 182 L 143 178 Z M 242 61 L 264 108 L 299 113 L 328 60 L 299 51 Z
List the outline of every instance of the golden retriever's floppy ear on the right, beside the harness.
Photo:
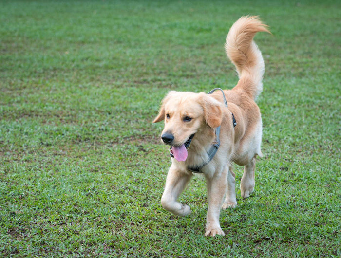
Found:
M 204 118 L 206 123 L 211 128 L 216 128 L 221 125 L 223 120 L 223 111 L 221 103 L 214 98 L 208 96 L 206 93 L 199 93 L 201 103 L 204 109 Z

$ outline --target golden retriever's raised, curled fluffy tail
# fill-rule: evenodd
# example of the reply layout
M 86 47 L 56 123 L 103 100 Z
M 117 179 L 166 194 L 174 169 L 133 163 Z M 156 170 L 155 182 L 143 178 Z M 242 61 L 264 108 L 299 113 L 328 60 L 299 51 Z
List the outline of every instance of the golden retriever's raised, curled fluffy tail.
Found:
M 257 32 L 269 32 L 258 16 L 239 18 L 226 37 L 225 50 L 228 58 L 236 66 L 239 81 L 233 88 L 242 90 L 256 99 L 263 90 L 264 60 L 253 37 Z

